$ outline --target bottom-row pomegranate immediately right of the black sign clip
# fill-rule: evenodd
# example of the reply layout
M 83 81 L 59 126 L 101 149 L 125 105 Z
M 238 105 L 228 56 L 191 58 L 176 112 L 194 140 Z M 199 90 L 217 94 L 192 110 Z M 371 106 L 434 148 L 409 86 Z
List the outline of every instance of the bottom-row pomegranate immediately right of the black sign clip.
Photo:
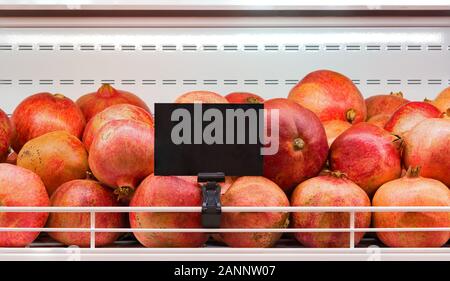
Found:
M 289 206 L 283 190 L 264 177 L 240 177 L 222 197 L 223 206 Z M 223 213 L 222 228 L 286 228 L 288 213 Z M 282 233 L 221 233 L 230 247 L 271 247 Z

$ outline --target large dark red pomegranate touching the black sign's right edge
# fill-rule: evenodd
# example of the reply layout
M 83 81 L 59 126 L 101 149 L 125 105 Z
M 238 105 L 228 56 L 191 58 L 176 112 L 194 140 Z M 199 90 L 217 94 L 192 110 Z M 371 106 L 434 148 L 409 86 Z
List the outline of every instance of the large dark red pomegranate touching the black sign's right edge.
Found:
M 279 149 L 264 156 L 264 176 L 290 193 L 324 166 L 328 154 L 325 130 L 317 116 L 293 101 L 271 99 L 264 108 L 268 135 L 273 132 L 272 110 L 279 111 Z

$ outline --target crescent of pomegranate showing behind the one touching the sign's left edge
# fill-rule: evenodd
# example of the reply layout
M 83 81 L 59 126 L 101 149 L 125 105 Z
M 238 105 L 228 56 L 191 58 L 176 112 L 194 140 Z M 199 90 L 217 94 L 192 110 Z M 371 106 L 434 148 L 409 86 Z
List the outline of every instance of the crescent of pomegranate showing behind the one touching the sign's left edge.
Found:
M 144 109 L 131 104 L 116 104 L 95 115 L 86 125 L 83 134 L 83 143 L 89 151 L 94 136 L 109 121 L 112 120 L 136 120 L 149 124 L 153 127 L 153 116 Z

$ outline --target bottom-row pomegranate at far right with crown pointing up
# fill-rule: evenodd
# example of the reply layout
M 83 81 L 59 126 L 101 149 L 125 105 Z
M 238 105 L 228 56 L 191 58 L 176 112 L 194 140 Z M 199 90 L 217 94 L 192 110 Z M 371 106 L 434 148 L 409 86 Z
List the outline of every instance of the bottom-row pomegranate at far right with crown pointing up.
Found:
M 382 185 L 373 197 L 373 206 L 450 206 L 450 190 L 443 183 L 418 176 L 419 169 L 409 169 L 406 176 Z M 376 212 L 374 227 L 448 227 L 446 212 Z M 450 238 L 448 231 L 378 232 L 389 247 L 441 247 Z

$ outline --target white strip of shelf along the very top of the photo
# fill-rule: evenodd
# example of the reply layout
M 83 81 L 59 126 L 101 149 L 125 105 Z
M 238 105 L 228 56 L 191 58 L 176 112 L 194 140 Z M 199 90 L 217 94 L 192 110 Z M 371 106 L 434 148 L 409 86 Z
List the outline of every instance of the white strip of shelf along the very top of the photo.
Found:
M 448 10 L 445 0 L 2 0 L 5 10 Z

